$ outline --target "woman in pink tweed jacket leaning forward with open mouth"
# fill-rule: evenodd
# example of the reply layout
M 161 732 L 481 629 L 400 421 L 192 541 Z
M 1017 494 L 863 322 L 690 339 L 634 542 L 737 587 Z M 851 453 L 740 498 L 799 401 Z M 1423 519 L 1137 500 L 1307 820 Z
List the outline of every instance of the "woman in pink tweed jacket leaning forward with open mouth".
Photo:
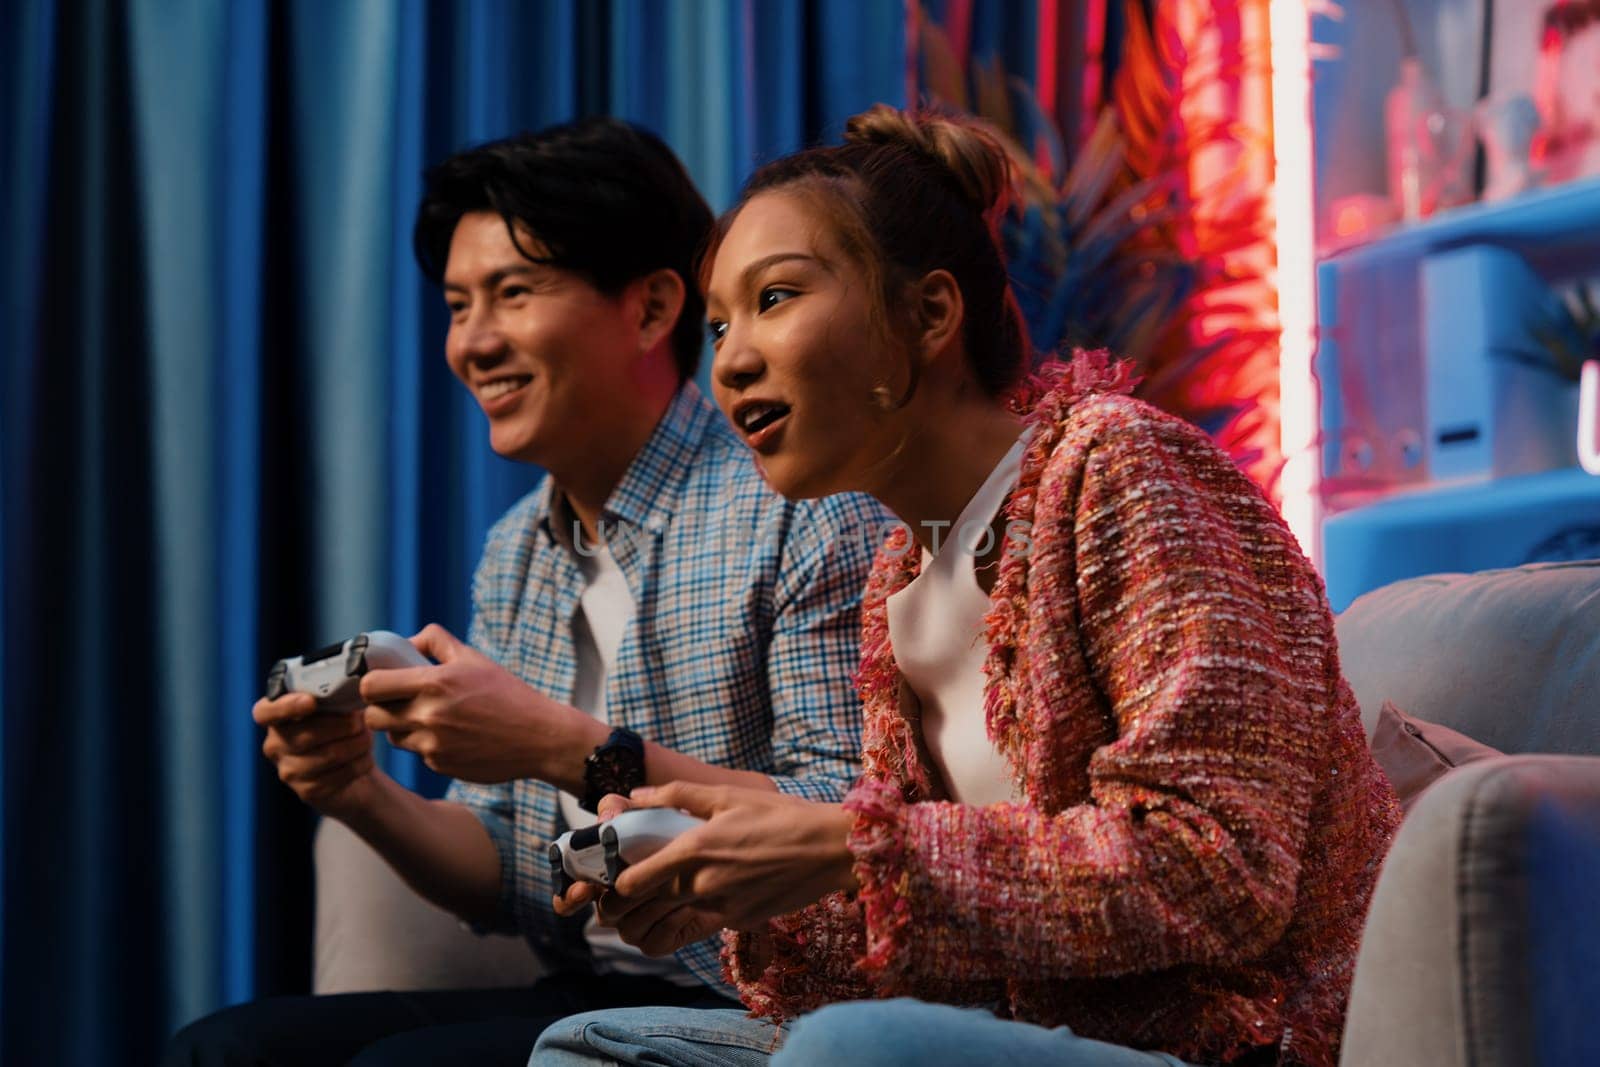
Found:
M 862 1003 L 787 1037 L 578 1016 L 536 1062 L 1336 1062 L 1398 808 L 1322 582 L 1123 366 L 1026 379 L 1006 187 L 981 130 L 877 107 L 758 171 L 702 274 L 768 483 L 901 520 L 862 601 L 864 776 L 843 805 L 635 792 L 709 822 L 600 917 L 646 952 L 739 931 L 728 977 L 774 1021 Z

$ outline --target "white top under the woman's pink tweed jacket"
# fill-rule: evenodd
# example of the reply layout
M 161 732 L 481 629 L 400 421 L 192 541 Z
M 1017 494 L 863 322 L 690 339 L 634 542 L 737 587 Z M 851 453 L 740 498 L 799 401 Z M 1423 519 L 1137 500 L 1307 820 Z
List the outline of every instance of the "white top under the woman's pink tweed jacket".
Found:
M 950 798 L 963 805 L 1021 800 L 984 720 L 984 616 L 978 557 L 992 547 L 994 520 L 1022 469 L 1027 434 L 1011 446 L 962 510 L 922 571 L 888 598 L 890 646 L 922 704 L 922 736 Z

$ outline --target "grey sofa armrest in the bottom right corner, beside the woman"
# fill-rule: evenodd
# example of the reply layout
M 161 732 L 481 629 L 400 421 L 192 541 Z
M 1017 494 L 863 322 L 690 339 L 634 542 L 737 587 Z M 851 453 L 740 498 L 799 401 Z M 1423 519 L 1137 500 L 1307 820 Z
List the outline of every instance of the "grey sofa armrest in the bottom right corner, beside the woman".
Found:
M 1451 771 L 1384 861 L 1339 1062 L 1600 1062 L 1597 894 L 1600 758 Z

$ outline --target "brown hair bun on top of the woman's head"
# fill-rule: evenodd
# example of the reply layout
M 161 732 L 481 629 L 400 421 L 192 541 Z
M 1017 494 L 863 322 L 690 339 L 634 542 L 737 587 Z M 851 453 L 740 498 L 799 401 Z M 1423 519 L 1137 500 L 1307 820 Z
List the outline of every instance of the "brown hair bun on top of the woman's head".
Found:
M 874 104 L 845 123 L 845 142 L 898 144 L 938 162 L 984 218 L 1011 200 L 1011 158 L 976 122 Z

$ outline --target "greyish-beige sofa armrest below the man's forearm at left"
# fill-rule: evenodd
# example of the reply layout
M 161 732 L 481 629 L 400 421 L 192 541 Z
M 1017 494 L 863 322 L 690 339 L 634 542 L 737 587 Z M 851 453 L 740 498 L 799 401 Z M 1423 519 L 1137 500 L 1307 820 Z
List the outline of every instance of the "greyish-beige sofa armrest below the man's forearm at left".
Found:
M 539 977 L 539 963 L 523 939 L 470 933 L 454 915 L 413 893 L 342 822 L 322 821 L 312 854 L 312 992 L 490 989 Z

